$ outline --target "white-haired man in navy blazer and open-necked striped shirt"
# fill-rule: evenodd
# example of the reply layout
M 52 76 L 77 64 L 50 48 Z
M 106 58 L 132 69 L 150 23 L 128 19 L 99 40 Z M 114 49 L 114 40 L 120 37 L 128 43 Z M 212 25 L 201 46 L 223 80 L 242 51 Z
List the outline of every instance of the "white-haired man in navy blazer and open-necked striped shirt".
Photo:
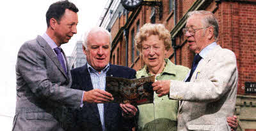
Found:
M 83 52 L 88 63 L 71 71 L 71 88 L 86 92 L 99 88 L 105 90 L 106 76 L 135 78 L 134 69 L 109 64 L 110 43 L 111 35 L 103 28 L 95 27 L 85 34 Z M 134 116 L 138 110 L 129 104 L 121 106 L 131 115 L 125 117 L 117 103 L 108 102 L 100 105 L 86 102 L 81 110 L 72 111 L 74 127 L 70 130 L 132 130 L 136 121 Z

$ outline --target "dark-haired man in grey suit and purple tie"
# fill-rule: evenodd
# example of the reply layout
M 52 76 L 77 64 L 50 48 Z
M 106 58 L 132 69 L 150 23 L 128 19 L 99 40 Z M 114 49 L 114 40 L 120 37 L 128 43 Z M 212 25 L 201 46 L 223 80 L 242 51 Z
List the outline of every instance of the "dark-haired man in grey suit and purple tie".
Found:
M 78 9 L 69 1 L 51 4 L 47 31 L 20 47 L 17 64 L 17 103 L 12 130 L 58 130 L 66 107 L 79 108 L 83 102 L 113 100 L 104 90 L 84 92 L 71 89 L 67 58 L 60 46 L 76 34 Z

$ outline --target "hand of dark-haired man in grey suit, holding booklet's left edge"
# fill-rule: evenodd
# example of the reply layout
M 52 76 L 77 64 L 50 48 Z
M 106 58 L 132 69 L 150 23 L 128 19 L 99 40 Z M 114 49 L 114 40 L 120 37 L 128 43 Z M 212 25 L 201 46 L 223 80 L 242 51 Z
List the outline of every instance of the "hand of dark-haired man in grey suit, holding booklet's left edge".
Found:
M 104 90 L 93 89 L 88 92 L 84 92 L 83 102 L 88 103 L 104 103 L 114 100 L 111 93 Z

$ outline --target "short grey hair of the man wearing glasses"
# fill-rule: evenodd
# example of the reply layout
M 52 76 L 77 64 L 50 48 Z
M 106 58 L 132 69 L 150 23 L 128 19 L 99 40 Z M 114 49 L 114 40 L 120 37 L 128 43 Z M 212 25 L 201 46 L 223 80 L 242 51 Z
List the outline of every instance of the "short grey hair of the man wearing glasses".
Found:
M 214 29 L 214 39 L 215 41 L 218 41 L 218 36 L 219 36 L 219 24 L 218 20 L 216 17 L 214 17 L 213 13 L 210 11 L 205 11 L 205 10 L 199 10 L 199 11 L 189 11 L 188 12 L 188 18 L 191 17 L 192 15 L 204 15 L 205 19 L 203 20 L 205 27 L 207 26 L 212 26 Z

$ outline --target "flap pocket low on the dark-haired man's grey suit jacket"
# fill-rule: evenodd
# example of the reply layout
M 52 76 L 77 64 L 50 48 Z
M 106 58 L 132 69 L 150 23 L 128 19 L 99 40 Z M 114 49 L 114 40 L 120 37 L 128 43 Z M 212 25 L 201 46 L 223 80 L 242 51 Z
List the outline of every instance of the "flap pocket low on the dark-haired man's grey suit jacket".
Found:
M 26 120 L 54 120 L 49 113 L 26 113 Z

